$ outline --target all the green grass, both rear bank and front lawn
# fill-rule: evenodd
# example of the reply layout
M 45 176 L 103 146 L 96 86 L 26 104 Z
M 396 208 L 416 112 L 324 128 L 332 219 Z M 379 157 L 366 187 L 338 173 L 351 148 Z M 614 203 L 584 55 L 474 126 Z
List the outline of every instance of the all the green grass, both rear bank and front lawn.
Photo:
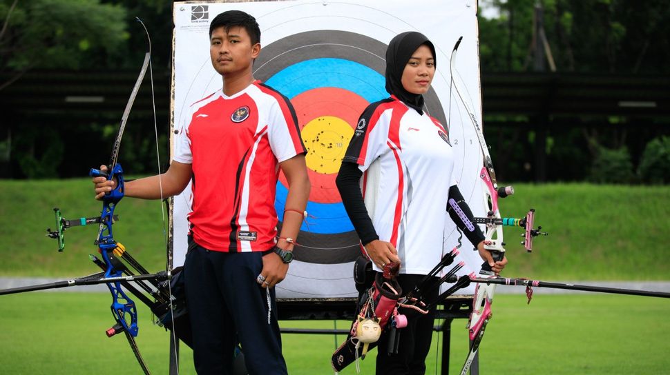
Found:
M 515 185 L 501 201 L 503 216 L 520 217 L 533 207 L 550 236 L 537 239 L 533 254 L 508 242 L 507 276 L 542 280 L 670 280 L 665 236 L 670 233 L 667 187 L 587 184 Z M 52 207 L 67 219 L 95 216 L 90 181 L 0 181 L 0 276 L 73 277 L 96 272 L 87 254 L 95 227 L 73 227 L 66 251 L 44 236 L 54 225 Z M 164 269 L 161 204 L 126 199 L 117 210 L 115 238 L 150 271 Z M 520 232 L 519 232 L 520 233 Z M 506 229 L 506 239 L 515 235 Z M 516 236 L 514 236 L 517 238 Z M 585 282 L 586 283 L 586 282 Z M 122 336 L 107 338 L 112 325 L 108 294 L 44 293 L 0 296 L 0 374 L 139 374 Z M 670 301 L 603 294 L 497 295 L 494 318 L 481 346 L 482 374 L 670 374 L 664 317 Z M 166 374 L 169 336 L 152 326 L 140 307 L 138 344 L 154 374 Z M 348 328 L 349 322 L 337 322 Z M 334 326 L 332 321 L 285 321 L 285 327 Z M 450 373 L 466 356 L 466 321 L 452 325 Z M 344 336 L 285 334 L 290 374 L 332 374 L 329 356 Z M 434 336 L 428 374 L 436 373 Z M 182 348 L 182 374 L 193 374 Z M 123 367 L 119 367 L 123 363 Z M 361 363 L 374 373 L 374 358 Z M 439 373 L 439 371 L 438 371 Z M 348 367 L 342 374 L 356 374 Z

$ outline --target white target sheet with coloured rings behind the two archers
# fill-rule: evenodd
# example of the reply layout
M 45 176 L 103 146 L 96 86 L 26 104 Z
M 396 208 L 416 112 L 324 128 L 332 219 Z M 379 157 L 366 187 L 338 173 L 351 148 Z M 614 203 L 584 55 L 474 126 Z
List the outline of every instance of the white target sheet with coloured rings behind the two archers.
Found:
M 221 88 L 222 79 L 209 59 L 209 22 L 216 14 L 233 9 L 256 17 L 262 50 L 254 63 L 254 77 L 291 99 L 308 149 L 310 216 L 300 228 L 296 261 L 291 263 L 285 281 L 276 286 L 278 297 L 357 295 L 352 270 L 360 248 L 334 179 L 358 115 L 368 103 L 389 96 L 384 88 L 385 50 L 401 32 L 419 31 L 437 49 L 437 72 L 425 96 L 426 108 L 447 124 L 457 154 L 455 172 L 461 192 L 475 216 L 484 216 L 478 178 L 481 151 L 463 105 L 455 92 L 450 95 L 449 70 L 454 43 L 463 36 L 454 79 L 466 88 L 463 94 L 481 123 L 476 0 L 423 0 L 420 7 L 404 0 L 175 3 L 175 127 L 188 121 L 184 117 L 191 103 Z M 174 200 L 171 241 L 175 265 L 183 263 L 186 252 L 190 194 L 187 187 Z M 283 212 L 285 198 L 281 176 L 277 212 Z M 458 237 L 450 220 L 444 237 L 443 250 L 449 252 Z M 464 237 L 460 258 L 457 261 L 466 261 L 460 274 L 479 271 L 481 259 Z M 472 292 L 470 288 L 463 294 Z

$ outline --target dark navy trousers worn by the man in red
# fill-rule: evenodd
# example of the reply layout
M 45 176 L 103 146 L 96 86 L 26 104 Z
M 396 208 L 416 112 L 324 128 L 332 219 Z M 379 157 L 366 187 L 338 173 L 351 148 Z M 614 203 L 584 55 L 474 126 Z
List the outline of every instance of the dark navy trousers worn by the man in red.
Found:
M 268 305 L 266 290 L 256 283 L 262 254 L 213 252 L 193 245 L 186 254 L 184 282 L 195 370 L 231 374 L 235 346 L 240 343 L 249 374 L 287 374 L 274 288 Z

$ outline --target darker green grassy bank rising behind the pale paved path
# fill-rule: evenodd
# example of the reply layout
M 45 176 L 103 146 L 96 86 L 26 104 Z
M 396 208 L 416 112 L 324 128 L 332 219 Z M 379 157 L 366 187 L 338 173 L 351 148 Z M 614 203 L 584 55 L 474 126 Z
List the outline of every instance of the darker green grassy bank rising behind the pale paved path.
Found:
M 506 274 L 545 280 L 668 280 L 670 189 L 667 186 L 516 184 L 502 199 L 502 216 L 537 210 L 549 232 L 526 254 L 520 229 L 506 228 Z M 55 224 L 52 207 L 66 219 L 99 214 L 90 180 L 0 180 L 0 276 L 80 276 L 92 272 L 97 227 L 66 232 L 66 250 L 44 236 Z M 124 199 L 115 239 L 150 271 L 163 270 L 165 240 L 161 204 Z

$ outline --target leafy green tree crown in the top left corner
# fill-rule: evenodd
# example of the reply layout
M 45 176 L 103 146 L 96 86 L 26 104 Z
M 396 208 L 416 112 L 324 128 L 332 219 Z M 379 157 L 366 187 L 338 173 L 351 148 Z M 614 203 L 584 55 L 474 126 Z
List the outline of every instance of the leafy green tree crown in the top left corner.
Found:
M 12 1 L 0 4 L 6 19 Z M 117 54 L 128 39 L 126 11 L 99 0 L 19 1 L 0 37 L 0 71 L 78 69 Z

